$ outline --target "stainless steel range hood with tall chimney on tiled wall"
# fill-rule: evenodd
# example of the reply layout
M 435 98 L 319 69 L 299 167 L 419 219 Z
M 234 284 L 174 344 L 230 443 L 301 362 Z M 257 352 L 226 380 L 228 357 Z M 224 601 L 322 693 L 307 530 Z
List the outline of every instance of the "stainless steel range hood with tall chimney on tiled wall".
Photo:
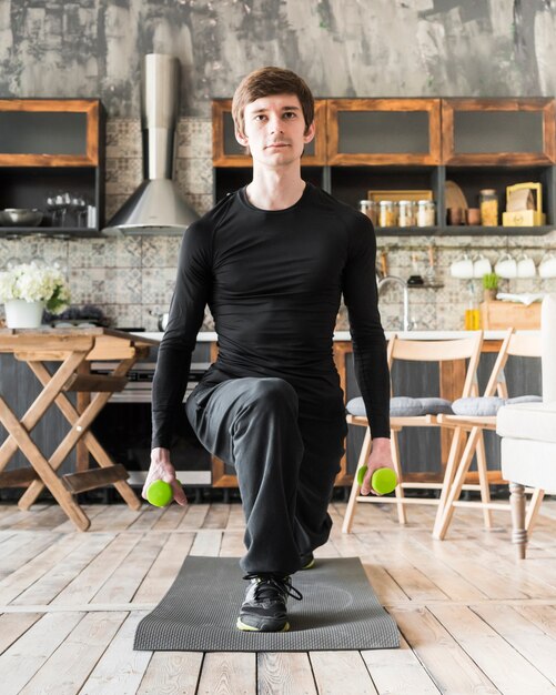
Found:
M 178 59 L 145 56 L 141 73 L 144 181 L 110 220 L 104 234 L 181 234 L 199 219 L 172 180 L 179 94 Z

